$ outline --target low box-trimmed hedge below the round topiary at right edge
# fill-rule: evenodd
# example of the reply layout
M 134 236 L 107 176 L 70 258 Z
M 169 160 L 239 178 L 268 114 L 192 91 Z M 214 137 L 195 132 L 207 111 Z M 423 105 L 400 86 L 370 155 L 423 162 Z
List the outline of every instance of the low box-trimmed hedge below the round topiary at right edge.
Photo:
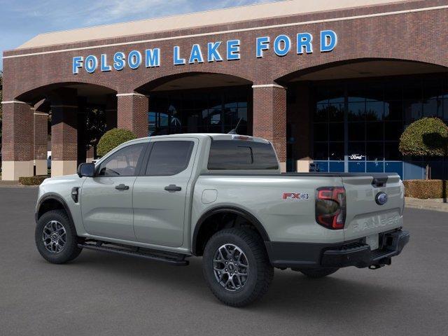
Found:
M 406 180 L 405 196 L 420 199 L 444 198 L 448 195 L 448 181 L 442 180 Z

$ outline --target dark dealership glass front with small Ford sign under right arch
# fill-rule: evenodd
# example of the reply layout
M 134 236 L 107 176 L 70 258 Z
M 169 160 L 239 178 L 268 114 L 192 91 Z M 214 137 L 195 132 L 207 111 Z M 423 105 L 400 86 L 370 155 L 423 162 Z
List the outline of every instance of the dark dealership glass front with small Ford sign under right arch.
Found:
M 320 172 L 403 176 L 409 169 L 398 151 L 400 135 L 419 118 L 448 121 L 447 79 L 406 76 L 316 85 L 313 158 Z M 406 179 L 415 174 L 408 175 Z

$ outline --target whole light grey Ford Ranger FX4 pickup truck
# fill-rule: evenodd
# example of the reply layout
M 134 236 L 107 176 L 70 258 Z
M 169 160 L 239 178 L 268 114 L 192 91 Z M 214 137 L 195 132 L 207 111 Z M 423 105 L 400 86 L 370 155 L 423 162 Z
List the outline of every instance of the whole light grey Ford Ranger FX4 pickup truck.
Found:
M 36 245 L 49 262 L 86 248 L 188 265 L 241 307 L 274 267 L 311 278 L 391 265 L 409 241 L 395 173 L 281 174 L 272 144 L 236 134 L 129 141 L 38 190 Z

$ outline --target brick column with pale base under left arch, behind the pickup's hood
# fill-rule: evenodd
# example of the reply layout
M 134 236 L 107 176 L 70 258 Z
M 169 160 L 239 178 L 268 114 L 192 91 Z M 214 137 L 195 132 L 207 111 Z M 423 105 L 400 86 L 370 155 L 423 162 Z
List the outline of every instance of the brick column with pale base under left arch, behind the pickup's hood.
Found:
M 76 90 L 58 90 L 51 102 L 51 176 L 75 174 L 78 165 Z

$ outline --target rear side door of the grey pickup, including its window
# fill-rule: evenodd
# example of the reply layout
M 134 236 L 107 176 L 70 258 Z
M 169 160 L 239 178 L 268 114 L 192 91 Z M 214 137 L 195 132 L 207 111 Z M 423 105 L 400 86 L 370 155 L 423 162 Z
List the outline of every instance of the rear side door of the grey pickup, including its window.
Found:
M 161 246 L 183 244 L 186 195 L 197 139 L 151 140 L 148 160 L 134 183 L 137 241 Z

